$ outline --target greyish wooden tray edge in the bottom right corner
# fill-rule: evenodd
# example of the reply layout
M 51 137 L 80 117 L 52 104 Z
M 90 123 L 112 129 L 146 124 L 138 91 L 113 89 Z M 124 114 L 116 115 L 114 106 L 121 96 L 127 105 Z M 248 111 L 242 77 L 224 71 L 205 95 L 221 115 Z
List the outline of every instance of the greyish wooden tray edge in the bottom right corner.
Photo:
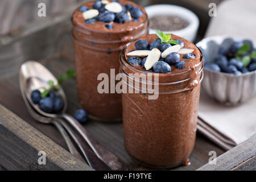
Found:
M 256 135 L 225 152 L 225 154 L 218 156 L 216 165 L 205 164 L 198 170 L 255 170 L 255 155 Z

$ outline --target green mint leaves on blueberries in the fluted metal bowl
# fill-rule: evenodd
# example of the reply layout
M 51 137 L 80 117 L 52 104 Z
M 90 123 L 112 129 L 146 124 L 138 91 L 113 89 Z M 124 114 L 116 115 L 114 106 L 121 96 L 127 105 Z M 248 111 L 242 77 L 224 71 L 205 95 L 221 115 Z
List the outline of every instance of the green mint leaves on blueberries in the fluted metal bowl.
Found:
M 243 67 L 247 67 L 251 63 L 251 59 L 256 59 L 256 51 L 247 55 L 250 51 L 250 46 L 248 44 L 243 44 L 236 53 L 236 59 L 240 60 L 243 63 Z

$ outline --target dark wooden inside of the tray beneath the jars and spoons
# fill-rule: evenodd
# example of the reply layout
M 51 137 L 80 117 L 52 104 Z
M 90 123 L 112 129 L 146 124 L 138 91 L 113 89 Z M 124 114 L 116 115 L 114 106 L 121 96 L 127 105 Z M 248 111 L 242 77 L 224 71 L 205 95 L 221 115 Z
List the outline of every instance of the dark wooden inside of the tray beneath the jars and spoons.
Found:
M 0 104 L 13 111 L 35 129 L 60 144 L 60 146 L 67 148 L 55 127 L 39 123 L 28 114 L 19 91 L 18 71 L 20 64 L 24 60 L 38 60 L 55 76 L 63 75 L 67 69 L 74 68 L 72 40 L 69 33 L 71 30 L 70 14 L 64 14 L 60 18 L 52 19 L 50 23 L 40 23 L 40 26 L 38 28 L 34 23 L 33 25 L 28 24 L 28 27 L 34 28 L 21 30 L 20 34 L 17 35 L 19 38 L 10 36 L 9 39 L 5 39 L 7 41 L 2 41 L 2 46 L 0 39 L 0 61 L 2 63 L 0 68 Z M 63 88 L 68 97 L 67 111 L 69 114 L 73 114 L 75 110 L 80 108 L 77 101 L 75 80 L 65 82 Z M 131 169 L 145 169 L 135 164 L 125 151 L 122 123 L 90 121 L 86 123 L 85 127 L 90 134 L 106 148 L 114 152 Z M 20 132 L 26 133 L 23 130 Z M 195 148 L 190 157 L 191 166 L 175 169 L 192 170 L 203 166 L 208 162 L 208 152 L 212 150 L 216 151 L 217 155 L 224 153 L 224 150 L 216 146 L 216 144 L 197 134 Z M 28 153 L 27 155 L 30 154 Z M 2 159 L 1 156 L 0 158 Z M 5 160 L 7 159 L 5 158 Z M 0 160 L 0 166 L 7 168 L 8 166 L 5 163 L 2 164 L 2 160 Z M 15 166 L 15 168 L 19 168 L 19 166 Z

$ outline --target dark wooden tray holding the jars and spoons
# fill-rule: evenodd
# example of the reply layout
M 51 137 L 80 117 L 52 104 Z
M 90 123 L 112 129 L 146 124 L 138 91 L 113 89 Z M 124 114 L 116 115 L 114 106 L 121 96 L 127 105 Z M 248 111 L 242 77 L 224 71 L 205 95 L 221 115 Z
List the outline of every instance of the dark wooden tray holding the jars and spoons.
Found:
M 74 68 L 71 14 L 72 11 L 68 11 L 42 22 L 38 20 L 0 38 L 0 169 L 90 170 L 67 151 L 63 138 L 54 126 L 39 123 L 28 114 L 18 82 L 20 65 L 27 60 L 39 61 L 56 77 Z M 80 108 L 75 80 L 65 82 L 63 88 L 68 98 L 67 111 L 73 115 Z M 134 163 L 125 151 L 122 123 L 90 121 L 84 127 L 131 169 L 146 169 Z M 46 152 L 47 165 L 38 164 L 38 151 Z M 193 170 L 203 166 L 208 163 L 209 151 L 216 151 L 217 155 L 225 152 L 203 135 L 197 134 L 190 156 L 191 166 L 174 169 Z M 235 164 L 221 169 L 232 169 L 244 162 L 245 158 L 243 156 Z

